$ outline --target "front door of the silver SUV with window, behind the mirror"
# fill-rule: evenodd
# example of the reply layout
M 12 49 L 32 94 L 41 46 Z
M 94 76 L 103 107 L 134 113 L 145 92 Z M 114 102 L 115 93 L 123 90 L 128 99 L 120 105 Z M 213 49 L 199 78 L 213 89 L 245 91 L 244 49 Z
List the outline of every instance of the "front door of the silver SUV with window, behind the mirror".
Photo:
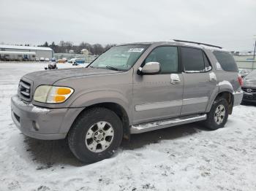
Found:
M 156 47 L 148 54 L 142 66 L 148 62 L 159 62 L 161 71 L 158 74 L 134 75 L 133 125 L 165 120 L 181 114 L 184 82 L 178 61 L 178 47 Z

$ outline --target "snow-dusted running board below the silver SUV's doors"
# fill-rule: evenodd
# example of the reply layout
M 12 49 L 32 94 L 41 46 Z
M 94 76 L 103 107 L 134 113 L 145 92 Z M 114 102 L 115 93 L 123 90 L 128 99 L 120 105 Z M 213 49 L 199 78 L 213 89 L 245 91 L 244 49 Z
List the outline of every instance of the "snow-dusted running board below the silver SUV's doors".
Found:
M 169 128 L 176 125 L 183 125 L 189 122 L 202 121 L 202 120 L 206 120 L 206 118 L 207 118 L 206 114 L 201 114 L 201 115 L 175 118 L 173 120 L 146 122 L 139 125 L 132 125 L 130 132 L 131 134 L 144 133 L 151 130 L 158 130 L 161 128 Z

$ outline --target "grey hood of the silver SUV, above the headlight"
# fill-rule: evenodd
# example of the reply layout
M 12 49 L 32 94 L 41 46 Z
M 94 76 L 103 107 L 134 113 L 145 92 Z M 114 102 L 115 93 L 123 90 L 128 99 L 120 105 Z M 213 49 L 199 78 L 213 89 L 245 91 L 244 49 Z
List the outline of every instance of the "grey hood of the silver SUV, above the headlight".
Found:
M 24 77 L 31 79 L 35 84 L 53 85 L 55 82 L 70 77 L 83 77 L 99 74 L 114 74 L 121 71 L 113 71 L 108 69 L 92 69 L 92 68 L 77 68 L 77 69 L 58 69 L 48 71 L 35 71 L 26 74 Z

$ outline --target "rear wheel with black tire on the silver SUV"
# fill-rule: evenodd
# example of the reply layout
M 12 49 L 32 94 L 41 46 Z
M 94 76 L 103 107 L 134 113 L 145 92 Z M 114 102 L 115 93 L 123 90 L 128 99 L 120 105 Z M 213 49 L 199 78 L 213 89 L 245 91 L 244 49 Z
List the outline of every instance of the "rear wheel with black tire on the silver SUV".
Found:
M 222 112 L 219 112 L 222 111 Z M 225 112 L 223 114 L 223 111 Z M 218 98 L 211 106 L 211 111 L 207 114 L 207 120 L 204 122 L 206 128 L 217 130 L 224 128 L 228 117 L 228 104 L 225 98 Z

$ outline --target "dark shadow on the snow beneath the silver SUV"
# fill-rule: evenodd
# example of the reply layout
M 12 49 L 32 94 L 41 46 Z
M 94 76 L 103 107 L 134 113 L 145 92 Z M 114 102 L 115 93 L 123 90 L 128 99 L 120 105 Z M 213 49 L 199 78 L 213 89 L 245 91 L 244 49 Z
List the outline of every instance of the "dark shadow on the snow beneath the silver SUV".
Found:
M 147 144 L 158 143 L 161 140 L 173 140 L 189 136 L 201 130 L 207 129 L 200 122 L 194 122 L 147 133 L 133 134 L 129 141 L 122 142 L 121 149 L 138 149 Z M 37 164 L 37 170 L 48 169 L 53 165 L 59 165 L 60 168 L 64 168 L 64 165 L 86 165 L 81 163 L 69 150 L 67 139 L 45 141 L 24 136 L 24 144 L 26 152 L 30 155 L 29 160 L 33 160 Z

